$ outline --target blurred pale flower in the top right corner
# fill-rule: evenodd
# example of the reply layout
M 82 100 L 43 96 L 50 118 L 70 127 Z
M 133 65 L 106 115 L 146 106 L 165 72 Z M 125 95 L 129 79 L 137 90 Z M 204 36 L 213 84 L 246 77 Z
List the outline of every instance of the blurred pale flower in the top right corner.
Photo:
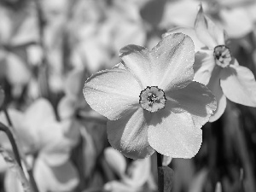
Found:
M 203 5 L 207 15 L 223 27 L 230 38 L 242 38 L 253 31 L 256 21 L 254 0 L 213 0 Z

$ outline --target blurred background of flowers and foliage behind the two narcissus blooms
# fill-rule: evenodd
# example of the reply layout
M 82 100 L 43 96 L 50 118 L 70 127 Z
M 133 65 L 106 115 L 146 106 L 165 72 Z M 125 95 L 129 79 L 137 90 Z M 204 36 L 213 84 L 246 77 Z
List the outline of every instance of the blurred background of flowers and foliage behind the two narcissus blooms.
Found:
M 11 121 L 1 112 L 0 122 L 12 124 L 40 192 L 157 191 L 155 154 L 130 160 L 110 148 L 107 119 L 90 109 L 82 89 L 92 73 L 120 62 L 123 46 L 151 49 L 169 29 L 193 27 L 200 3 L 255 75 L 255 0 L 0 1 L 0 85 Z M 195 158 L 169 165 L 172 191 L 255 192 L 256 109 L 228 102 L 202 131 Z M 0 149 L 14 159 L 3 133 Z M 3 157 L 0 191 L 23 191 L 15 163 Z

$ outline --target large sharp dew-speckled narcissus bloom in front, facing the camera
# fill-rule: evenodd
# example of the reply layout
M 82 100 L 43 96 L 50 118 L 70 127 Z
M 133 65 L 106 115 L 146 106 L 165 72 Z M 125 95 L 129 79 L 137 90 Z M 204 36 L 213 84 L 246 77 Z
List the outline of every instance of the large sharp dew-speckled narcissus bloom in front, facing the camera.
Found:
M 156 150 L 191 158 L 201 147 L 201 126 L 216 109 L 211 91 L 194 79 L 194 44 L 176 33 L 152 50 L 120 49 L 124 61 L 92 75 L 84 84 L 90 107 L 108 118 L 108 141 L 126 157 L 146 158 Z

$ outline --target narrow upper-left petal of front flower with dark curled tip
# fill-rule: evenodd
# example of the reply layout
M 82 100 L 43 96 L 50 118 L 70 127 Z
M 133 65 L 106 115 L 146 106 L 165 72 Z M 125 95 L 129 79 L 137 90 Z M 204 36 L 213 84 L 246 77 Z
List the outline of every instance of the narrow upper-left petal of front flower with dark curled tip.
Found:
M 139 79 L 142 89 L 151 85 L 152 63 L 148 49 L 130 44 L 119 50 L 119 56 L 125 67 Z

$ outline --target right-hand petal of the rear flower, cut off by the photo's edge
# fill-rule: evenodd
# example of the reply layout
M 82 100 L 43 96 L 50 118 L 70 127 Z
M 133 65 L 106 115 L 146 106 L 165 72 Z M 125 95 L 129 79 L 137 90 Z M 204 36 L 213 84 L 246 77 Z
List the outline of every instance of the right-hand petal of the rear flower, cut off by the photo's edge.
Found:
M 256 82 L 247 67 L 230 65 L 224 68 L 220 85 L 230 101 L 256 107 Z

